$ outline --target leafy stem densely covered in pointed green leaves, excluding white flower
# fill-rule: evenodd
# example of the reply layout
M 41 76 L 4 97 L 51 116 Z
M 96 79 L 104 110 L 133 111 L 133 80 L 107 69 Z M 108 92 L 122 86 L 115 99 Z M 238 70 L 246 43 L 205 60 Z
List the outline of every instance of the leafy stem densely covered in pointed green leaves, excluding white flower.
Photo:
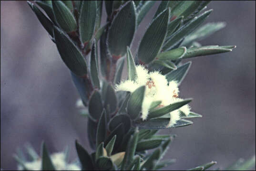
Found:
M 190 57 L 230 52 L 235 46 L 201 46 L 199 40 L 223 28 L 225 23 L 202 26 L 212 10 L 209 1 L 161 1 L 133 55 L 129 49 L 141 21 L 154 6 L 154 0 L 37 0 L 28 1 L 42 26 L 55 43 L 82 100 L 87 116 L 91 154 L 76 141 L 83 170 L 156 170 L 174 163 L 161 161 L 174 135 L 157 135 L 170 118 L 164 117 L 186 103 L 158 108 L 151 105 L 147 120 L 141 119 L 144 88 L 133 93 L 115 92 L 125 60 L 128 78 L 136 77 L 135 66 L 160 70 L 168 81 L 181 84 Z M 102 23 L 102 8 L 107 19 Z M 99 41 L 99 43 L 98 43 Z M 100 45 L 98 49 L 97 45 Z M 99 51 L 99 52 L 98 52 Z M 171 128 L 192 124 L 187 118 L 201 117 L 191 112 Z M 148 153 L 148 150 L 154 149 Z M 51 166 L 51 162 L 48 162 Z M 202 170 L 215 162 L 199 166 Z

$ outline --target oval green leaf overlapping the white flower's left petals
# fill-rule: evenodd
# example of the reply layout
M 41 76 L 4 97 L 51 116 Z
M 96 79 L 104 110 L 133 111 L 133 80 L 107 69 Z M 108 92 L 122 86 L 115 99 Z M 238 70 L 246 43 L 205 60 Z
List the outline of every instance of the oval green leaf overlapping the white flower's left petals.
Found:
M 145 86 L 141 86 L 132 93 L 129 99 L 129 102 L 127 105 L 127 112 L 130 115 L 132 120 L 135 120 L 136 118 L 138 118 L 141 112 L 144 92 L 145 92 Z

